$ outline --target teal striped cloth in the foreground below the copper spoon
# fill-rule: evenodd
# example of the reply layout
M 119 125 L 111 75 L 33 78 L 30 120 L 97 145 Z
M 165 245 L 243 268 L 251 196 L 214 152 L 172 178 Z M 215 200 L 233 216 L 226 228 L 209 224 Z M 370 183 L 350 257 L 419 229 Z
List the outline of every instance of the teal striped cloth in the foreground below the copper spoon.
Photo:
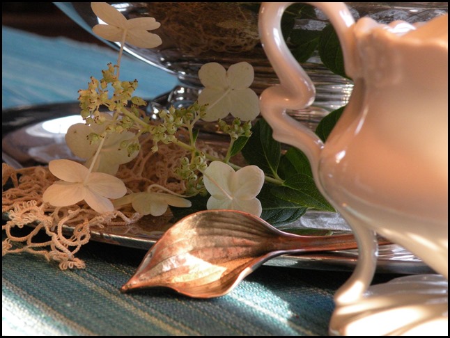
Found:
M 86 269 L 75 271 L 3 257 L 3 335 L 327 335 L 332 293 L 348 278 L 263 266 L 212 300 L 168 289 L 120 293 L 144 253 L 89 243 L 79 255 Z

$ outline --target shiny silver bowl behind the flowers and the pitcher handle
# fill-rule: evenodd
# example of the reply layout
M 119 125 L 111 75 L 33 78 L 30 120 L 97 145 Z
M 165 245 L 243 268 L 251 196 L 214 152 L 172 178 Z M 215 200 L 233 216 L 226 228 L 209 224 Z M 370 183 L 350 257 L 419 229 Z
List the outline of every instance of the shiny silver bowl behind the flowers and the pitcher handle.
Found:
M 88 2 L 56 2 L 63 12 L 84 29 L 98 24 L 98 18 Z M 139 60 L 160 67 L 178 77 L 180 86 L 153 102 L 158 106 L 187 106 L 196 100 L 201 88 L 198 72 L 201 65 L 217 62 L 224 67 L 247 61 L 255 70 L 252 88 L 259 94 L 267 86 L 279 83 L 267 61 L 258 35 L 258 9 L 261 3 L 239 2 L 115 2 L 112 6 L 132 17 L 155 17 L 161 23 L 152 31 L 160 35 L 162 45 L 154 49 L 141 49 L 131 45 L 125 51 Z M 370 16 L 378 22 L 389 23 L 396 19 L 408 22 L 429 20 L 447 13 L 447 2 L 385 2 L 346 3 L 355 19 Z M 282 26 L 288 46 L 294 53 L 303 54 L 309 48 L 302 42 L 306 34 L 320 33 L 329 24 L 320 10 L 304 4 L 290 6 Z M 315 33 L 314 33 L 315 32 Z M 308 35 L 309 36 L 309 35 Z M 317 35 L 313 35 L 317 36 Z M 300 40 L 300 42 L 299 42 Z M 107 45 L 117 47 L 114 42 Z M 303 43 L 303 45 L 302 45 Z M 334 74 L 325 67 L 317 50 L 311 50 L 302 67 L 316 85 L 313 106 L 290 112 L 297 120 L 313 127 L 324 115 L 347 104 L 352 91 L 352 81 Z

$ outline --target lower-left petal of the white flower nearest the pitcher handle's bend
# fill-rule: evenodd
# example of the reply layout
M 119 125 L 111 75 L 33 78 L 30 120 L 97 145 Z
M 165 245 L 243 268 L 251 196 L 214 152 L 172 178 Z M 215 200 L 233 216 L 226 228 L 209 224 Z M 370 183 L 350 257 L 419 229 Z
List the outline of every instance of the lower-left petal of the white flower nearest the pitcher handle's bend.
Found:
M 199 104 L 208 104 L 203 121 L 212 122 L 224 118 L 230 113 L 230 100 L 225 90 L 220 88 L 205 88 L 200 92 Z

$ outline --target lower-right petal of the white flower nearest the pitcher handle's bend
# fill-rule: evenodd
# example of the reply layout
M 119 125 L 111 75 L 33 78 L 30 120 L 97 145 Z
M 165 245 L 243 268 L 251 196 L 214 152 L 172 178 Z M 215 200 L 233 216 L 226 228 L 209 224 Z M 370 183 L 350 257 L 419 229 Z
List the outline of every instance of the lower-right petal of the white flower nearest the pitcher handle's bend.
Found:
M 259 99 L 250 88 L 231 90 L 228 94 L 231 102 L 230 113 L 242 121 L 254 120 L 259 114 Z

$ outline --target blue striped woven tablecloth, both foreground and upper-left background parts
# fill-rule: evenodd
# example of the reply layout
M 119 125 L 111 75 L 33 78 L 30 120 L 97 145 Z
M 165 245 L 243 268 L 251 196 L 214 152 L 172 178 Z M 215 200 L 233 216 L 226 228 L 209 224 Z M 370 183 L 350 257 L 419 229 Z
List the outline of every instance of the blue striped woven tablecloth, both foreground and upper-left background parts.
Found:
M 116 58 L 107 48 L 6 27 L 2 48 L 3 108 L 73 101 L 88 77 Z M 121 74 L 139 79 L 143 97 L 176 84 L 166 72 L 130 59 Z M 6 255 L 3 335 L 327 335 L 332 295 L 350 275 L 263 266 L 212 300 L 167 289 L 120 293 L 144 254 L 91 242 L 79 252 L 86 269 L 74 271 L 28 254 Z

